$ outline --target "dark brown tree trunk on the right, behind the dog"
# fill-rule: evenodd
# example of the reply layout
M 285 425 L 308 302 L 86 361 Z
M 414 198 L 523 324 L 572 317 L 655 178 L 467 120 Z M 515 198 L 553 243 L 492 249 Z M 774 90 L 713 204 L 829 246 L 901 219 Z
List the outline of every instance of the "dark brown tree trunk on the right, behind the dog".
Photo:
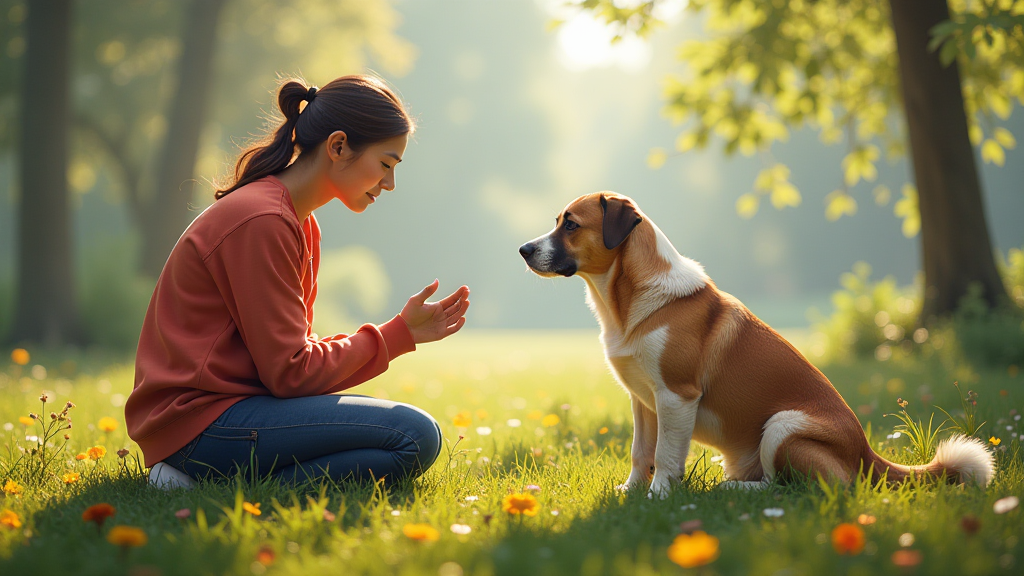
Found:
M 949 19 L 949 7 L 945 0 L 890 0 L 890 7 L 921 209 L 922 321 L 948 316 L 971 284 L 994 306 L 1006 288 L 985 222 L 959 72 L 928 50 L 929 31 Z

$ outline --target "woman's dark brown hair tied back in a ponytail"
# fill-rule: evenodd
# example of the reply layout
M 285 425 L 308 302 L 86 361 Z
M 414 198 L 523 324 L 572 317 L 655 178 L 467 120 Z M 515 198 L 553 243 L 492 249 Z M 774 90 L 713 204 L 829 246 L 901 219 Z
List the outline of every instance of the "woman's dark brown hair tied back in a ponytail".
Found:
M 302 80 L 287 80 L 278 89 L 278 106 L 284 122 L 242 153 L 233 181 L 214 193 L 217 200 L 284 170 L 297 153 L 314 150 L 335 131 L 344 131 L 348 146 L 359 152 L 416 130 L 398 96 L 373 76 L 342 76 L 318 90 Z

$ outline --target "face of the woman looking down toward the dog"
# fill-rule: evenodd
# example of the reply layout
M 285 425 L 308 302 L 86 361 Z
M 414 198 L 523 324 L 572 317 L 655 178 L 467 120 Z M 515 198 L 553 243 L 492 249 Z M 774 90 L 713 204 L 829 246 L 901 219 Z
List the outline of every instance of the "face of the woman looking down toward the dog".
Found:
M 406 154 L 409 134 L 402 134 L 354 152 L 347 139 L 330 142 L 331 183 L 334 197 L 349 210 L 361 212 L 385 190 L 394 190 L 394 170 Z

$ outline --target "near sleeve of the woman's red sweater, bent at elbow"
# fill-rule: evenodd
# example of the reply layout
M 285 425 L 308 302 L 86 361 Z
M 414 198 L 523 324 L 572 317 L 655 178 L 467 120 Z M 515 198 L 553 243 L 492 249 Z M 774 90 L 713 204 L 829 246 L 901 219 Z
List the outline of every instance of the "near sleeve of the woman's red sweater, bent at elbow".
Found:
M 401 317 L 354 334 L 311 338 L 302 300 L 298 231 L 276 214 L 249 219 L 206 257 L 207 268 L 252 356 L 260 381 L 278 398 L 340 392 L 387 370 L 412 352 Z

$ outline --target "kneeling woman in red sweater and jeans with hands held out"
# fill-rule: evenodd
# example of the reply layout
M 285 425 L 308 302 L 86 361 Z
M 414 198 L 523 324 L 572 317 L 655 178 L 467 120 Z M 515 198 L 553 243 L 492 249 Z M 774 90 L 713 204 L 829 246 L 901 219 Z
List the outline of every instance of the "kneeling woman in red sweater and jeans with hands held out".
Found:
M 335 198 L 362 212 L 394 190 L 414 123 L 367 76 L 319 90 L 288 81 L 278 104 L 284 122 L 242 154 L 234 181 L 182 234 L 142 326 L 125 420 L 163 488 L 240 469 L 396 481 L 440 451 L 440 428 L 419 408 L 333 393 L 458 332 L 467 287 L 427 303 L 435 280 L 392 320 L 350 336 L 311 329 L 321 253 L 312 212 Z

